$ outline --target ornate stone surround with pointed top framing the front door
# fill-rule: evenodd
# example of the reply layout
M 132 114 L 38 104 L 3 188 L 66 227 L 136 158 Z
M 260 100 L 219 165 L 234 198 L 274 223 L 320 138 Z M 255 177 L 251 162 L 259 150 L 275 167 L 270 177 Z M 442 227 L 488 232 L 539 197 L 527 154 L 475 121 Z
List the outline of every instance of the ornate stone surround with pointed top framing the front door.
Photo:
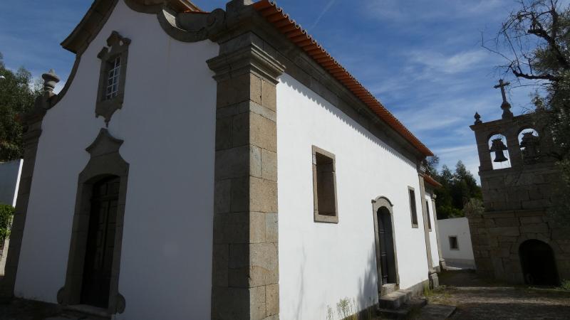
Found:
M 125 298 L 118 292 L 118 287 L 129 164 L 119 154 L 121 144 L 123 144 L 123 140 L 115 139 L 107 129 L 101 129 L 95 142 L 86 149 L 91 158 L 85 169 L 79 174 L 66 284 L 59 290 L 57 297 L 60 304 L 78 305 L 81 302 L 83 265 L 86 255 L 93 184 L 100 181 L 101 178 L 118 176 L 120 178 L 119 200 L 107 312 L 108 314 L 116 314 L 125 311 Z

